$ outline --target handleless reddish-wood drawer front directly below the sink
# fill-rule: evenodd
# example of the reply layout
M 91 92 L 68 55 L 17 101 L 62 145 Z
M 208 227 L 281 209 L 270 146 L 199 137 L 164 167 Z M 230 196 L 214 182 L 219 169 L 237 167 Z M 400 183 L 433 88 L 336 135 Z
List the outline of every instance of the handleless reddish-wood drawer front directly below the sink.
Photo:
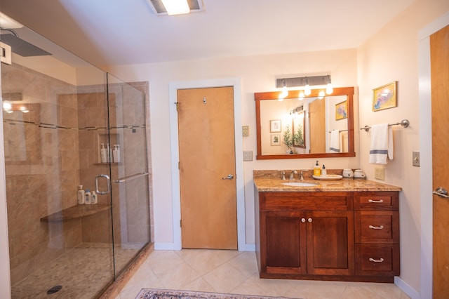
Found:
M 352 210 L 352 192 L 260 192 L 260 211 Z

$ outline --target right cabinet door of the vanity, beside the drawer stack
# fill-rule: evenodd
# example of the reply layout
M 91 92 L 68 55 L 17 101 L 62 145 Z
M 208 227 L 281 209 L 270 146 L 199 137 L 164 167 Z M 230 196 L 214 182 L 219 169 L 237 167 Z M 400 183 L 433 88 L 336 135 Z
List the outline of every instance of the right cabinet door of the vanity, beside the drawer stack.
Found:
M 307 212 L 307 274 L 354 274 L 354 212 Z

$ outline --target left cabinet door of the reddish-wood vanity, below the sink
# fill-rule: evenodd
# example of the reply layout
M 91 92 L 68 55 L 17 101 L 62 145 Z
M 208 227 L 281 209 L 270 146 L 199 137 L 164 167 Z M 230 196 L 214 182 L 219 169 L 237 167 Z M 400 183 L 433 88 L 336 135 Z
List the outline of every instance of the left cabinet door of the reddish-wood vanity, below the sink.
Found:
M 271 274 L 306 273 L 304 212 L 262 212 L 260 232 L 264 232 L 260 236 L 261 260 L 265 261 L 265 265 L 262 262 L 262 272 L 265 267 Z

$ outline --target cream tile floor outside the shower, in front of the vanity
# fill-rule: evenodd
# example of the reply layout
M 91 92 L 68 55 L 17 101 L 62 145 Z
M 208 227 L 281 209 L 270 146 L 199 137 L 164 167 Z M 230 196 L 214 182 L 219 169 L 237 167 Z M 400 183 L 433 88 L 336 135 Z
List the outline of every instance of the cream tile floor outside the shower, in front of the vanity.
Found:
M 253 252 L 196 249 L 153 251 L 115 299 L 133 299 L 141 288 L 304 299 L 409 299 L 394 284 L 260 279 Z

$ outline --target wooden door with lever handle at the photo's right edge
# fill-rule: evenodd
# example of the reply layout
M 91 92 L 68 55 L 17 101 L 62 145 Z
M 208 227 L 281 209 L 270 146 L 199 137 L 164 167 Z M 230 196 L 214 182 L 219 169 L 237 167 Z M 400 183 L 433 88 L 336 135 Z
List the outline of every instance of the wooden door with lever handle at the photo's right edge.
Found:
M 433 187 L 449 190 L 449 26 L 430 36 Z M 434 298 L 449 298 L 449 199 L 434 195 Z

